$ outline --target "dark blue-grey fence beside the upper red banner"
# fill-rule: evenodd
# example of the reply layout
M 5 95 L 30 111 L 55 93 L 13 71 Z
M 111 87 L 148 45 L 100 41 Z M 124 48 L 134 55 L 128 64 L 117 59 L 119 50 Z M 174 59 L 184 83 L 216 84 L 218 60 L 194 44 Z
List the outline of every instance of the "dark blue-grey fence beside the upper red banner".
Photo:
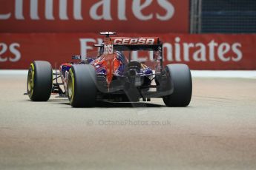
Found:
M 256 1 L 191 0 L 191 33 L 256 33 Z

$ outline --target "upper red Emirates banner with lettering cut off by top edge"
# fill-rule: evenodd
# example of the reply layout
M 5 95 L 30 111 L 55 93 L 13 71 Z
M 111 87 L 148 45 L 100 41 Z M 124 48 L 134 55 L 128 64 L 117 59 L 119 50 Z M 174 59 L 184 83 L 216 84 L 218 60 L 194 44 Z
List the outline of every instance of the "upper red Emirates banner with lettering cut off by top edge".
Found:
M 188 0 L 0 0 L 0 33 L 188 33 Z

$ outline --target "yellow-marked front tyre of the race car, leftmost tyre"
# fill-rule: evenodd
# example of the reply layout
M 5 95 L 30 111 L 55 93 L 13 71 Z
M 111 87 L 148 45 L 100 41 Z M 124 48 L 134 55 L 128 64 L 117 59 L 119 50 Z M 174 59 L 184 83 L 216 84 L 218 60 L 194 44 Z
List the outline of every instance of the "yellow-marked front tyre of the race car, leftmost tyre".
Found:
M 27 74 L 27 95 L 31 101 L 48 101 L 53 87 L 53 69 L 47 61 L 33 61 Z

